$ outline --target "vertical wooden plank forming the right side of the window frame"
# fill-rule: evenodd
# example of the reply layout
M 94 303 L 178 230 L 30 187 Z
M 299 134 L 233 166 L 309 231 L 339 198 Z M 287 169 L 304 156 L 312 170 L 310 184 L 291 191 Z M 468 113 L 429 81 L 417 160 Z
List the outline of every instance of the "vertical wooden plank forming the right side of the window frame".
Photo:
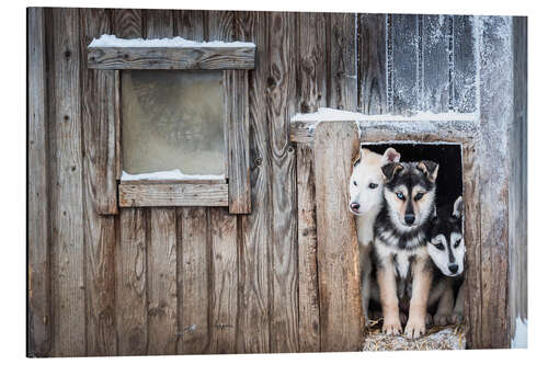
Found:
M 231 214 L 251 212 L 248 87 L 248 71 L 225 72 L 228 208 Z

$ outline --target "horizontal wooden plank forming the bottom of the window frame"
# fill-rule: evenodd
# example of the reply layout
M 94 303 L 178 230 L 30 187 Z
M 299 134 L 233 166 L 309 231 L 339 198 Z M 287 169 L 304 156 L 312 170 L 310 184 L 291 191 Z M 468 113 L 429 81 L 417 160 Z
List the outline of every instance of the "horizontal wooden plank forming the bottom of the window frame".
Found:
M 121 207 L 228 206 L 228 184 L 121 184 Z

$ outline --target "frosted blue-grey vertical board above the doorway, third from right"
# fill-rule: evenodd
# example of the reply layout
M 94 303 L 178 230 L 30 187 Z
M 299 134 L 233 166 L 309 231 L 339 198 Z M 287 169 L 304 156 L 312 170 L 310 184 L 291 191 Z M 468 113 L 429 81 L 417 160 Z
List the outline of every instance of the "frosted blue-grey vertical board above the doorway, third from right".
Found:
M 419 53 L 419 16 L 420 15 L 390 15 L 389 26 L 391 38 L 391 90 L 393 114 L 411 115 L 419 110 L 422 94 L 422 72 Z M 422 57 L 422 56 L 421 56 Z

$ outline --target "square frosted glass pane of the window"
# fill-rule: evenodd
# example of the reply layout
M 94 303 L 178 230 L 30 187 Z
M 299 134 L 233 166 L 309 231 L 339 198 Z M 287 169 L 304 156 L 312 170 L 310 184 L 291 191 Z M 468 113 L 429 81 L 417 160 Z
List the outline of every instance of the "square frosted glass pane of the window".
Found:
M 222 71 L 123 71 L 124 171 L 224 174 L 222 99 Z

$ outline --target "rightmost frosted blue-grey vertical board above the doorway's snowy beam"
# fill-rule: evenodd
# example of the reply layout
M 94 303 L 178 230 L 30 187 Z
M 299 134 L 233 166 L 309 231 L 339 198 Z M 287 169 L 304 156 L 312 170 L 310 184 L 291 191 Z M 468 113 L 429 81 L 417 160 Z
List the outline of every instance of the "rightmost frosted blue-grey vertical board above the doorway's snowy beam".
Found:
M 453 16 L 454 102 L 458 113 L 477 111 L 477 50 L 473 16 Z

